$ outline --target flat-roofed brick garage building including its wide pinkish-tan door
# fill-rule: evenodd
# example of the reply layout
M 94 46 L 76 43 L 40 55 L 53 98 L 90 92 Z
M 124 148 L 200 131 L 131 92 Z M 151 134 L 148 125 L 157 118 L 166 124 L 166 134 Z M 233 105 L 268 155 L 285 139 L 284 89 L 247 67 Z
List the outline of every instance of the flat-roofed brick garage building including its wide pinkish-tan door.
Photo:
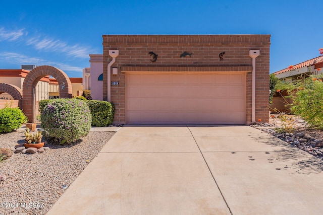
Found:
M 268 121 L 269 56 L 270 35 L 103 35 L 103 100 L 114 123 Z

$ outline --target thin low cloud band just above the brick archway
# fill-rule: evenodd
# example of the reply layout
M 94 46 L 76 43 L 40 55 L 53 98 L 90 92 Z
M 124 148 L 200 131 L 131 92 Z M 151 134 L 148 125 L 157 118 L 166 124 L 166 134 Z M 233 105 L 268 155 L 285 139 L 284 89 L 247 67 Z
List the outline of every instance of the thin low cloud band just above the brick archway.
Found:
M 55 66 L 63 71 L 76 71 L 82 73 L 81 67 L 72 66 L 65 63 L 53 62 L 49 60 L 44 60 L 37 57 L 29 57 L 24 54 L 14 53 L 14 52 L 2 52 L 0 53 L 0 58 L 4 61 L 16 63 L 16 64 L 32 64 L 32 65 L 51 65 Z

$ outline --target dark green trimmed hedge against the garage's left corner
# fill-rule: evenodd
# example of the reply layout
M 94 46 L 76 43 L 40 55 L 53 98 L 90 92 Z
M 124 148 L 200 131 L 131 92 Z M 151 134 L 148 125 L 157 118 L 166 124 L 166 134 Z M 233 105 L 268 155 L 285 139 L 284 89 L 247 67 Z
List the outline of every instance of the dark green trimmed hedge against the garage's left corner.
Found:
M 92 126 L 104 127 L 112 124 L 114 119 L 114 106 L 107 101 L 87 100 L 92 115 Z

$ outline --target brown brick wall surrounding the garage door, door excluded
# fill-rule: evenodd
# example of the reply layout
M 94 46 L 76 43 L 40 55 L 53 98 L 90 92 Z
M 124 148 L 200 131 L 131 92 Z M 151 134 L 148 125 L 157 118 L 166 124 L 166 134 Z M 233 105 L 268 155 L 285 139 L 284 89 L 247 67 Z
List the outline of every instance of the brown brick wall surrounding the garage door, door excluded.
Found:
M 248 71 L 246 83 L 247 123 L 251 122 L 252 58 L 249 50 L 260 50 L 256 58 L 256 121 L 268 121 L 270 35 L 103 35 L 103 100 L 107 100 L 109 50 L 119 50 L 112 67 L 111 102 L 115 123 L 125 123 L 125 71 Z M 148 52 L 156 53 L 152 62 Z M 191 57 L 180 57 L 187 51 Z M 219 54 L 225 52 L 223 60 Z

